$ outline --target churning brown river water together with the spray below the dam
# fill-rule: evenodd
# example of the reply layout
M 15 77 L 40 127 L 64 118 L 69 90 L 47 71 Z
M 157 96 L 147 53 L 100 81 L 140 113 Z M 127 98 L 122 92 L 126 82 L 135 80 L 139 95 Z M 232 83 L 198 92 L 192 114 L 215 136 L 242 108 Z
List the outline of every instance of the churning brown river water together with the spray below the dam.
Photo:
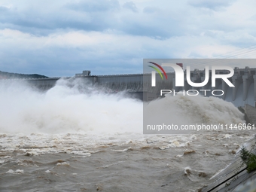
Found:
M 163 98 L 175 123 L 244 123 L 218 98 Z M 60 80 L 0 84 L 0 191 L 197 191 L 253 131 L 143 135 L 143 104 Z

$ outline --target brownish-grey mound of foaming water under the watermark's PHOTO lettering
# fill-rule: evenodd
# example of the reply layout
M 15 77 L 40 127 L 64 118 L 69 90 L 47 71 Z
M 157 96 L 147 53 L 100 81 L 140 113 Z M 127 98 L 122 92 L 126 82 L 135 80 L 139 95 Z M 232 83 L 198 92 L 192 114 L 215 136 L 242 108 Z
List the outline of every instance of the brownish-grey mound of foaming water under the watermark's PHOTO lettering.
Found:
M 213 96 L 167 95 L 164 99 L 145 105 L 144 112 L 145 117 L 152 117 L 149 122 L 157 118 L 163 123 L 173 123 L 179 127 L 196 123 L 245 123 L 244 115 L 231 102 Z

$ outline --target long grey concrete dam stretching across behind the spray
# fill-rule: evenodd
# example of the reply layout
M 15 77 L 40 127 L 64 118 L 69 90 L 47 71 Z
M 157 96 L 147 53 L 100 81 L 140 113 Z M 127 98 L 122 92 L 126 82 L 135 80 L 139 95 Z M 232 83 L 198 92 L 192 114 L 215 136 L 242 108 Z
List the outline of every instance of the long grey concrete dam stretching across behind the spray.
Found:
M 227 70 L 217 70 L 216 74 L 227 74 Z M 209 82 L 203 87 L 191 87 L 186 80 L 186 70 L 184 70 L 184 87 L 175 87 L 175 73 L 167 72 L 167 79 L 162 80 L 160 75 L 156 75 L 157 87 L 151 86 L 151 74 L 129 74 L 129 75 L 91 75 L 90 71 L 83 71 L 74 77 L 65 77 L 62 79 L 79 79 L 83 84 L 92 85 L 93 87 L 105 90 L 106 93 L 117 93 L 125 91 L 138 99 L 150 101 L 160 97 L 160 90 L 168 89 L 175 92 L 187 90 L 209 90 L 206 96 L 212 96 L 210 90 L 212 87 L 212 72 L 209 72 Z M 190 79 L 195 83 L 203 82 L 205 79 L 205 70 L 194 69 L 190 71 Z M 61 78 L 31 78 L 31 79 L 2 79 L 5 81 L 26 81 L 32 87 L 40 90 L 49 90 L 54 87 L 56 81 Z M 227 102 L 232 102 L 236 106 L 245 104 L 255 106 L 256 102 L 256 68 L 245 67 L 234 68 L 234 75 L 229 81 L 235 87 L 229 87 L 222 79 L 216 79 L 215 89 L 223 90 L 223 95 L 218 96 Z M 167 88 L 166 88 L 167 87 Z

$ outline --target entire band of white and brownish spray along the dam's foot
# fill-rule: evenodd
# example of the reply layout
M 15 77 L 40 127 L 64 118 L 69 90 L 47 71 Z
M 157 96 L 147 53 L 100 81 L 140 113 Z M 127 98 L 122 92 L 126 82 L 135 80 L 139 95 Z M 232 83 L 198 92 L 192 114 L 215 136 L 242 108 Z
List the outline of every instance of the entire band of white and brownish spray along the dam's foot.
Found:
M 142 102 L 106 94 L 78 80 L 59 80 L 47 92 L 25 83 L 0 84 L 0 133 L 142 133 Z M 175 124 L 242 123 L 243 114 L 215 97 L 167 96 L 144 112 L 163 111 Z

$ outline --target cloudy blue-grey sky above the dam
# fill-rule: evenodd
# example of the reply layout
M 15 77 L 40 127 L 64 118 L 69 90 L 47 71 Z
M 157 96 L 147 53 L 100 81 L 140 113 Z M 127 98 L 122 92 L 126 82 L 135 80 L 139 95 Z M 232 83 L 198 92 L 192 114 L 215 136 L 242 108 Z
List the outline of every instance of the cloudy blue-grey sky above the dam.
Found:
M 256 58 L 255 8 L 254 0 L 0 0 L 0 71 L 111 75 L 142 73 L 148 58 Z

